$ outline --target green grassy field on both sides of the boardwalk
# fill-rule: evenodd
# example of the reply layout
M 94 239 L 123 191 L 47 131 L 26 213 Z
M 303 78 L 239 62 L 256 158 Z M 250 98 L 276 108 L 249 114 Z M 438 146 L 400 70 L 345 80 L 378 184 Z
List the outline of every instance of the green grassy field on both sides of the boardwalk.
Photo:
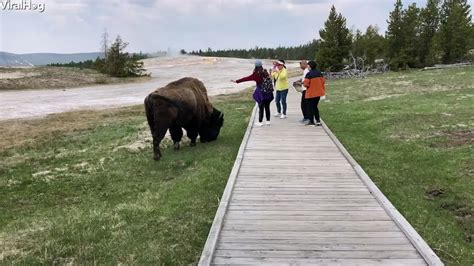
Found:
M 329 82 L 323 119 L 449 265 L 473 265 L 474 69 Z M 0 264 L 196 263 L 249 91 L 217 142 L 152 160 L 143 107 L 0 122 Z M 143 149 L 144 148 L 144 149 Z

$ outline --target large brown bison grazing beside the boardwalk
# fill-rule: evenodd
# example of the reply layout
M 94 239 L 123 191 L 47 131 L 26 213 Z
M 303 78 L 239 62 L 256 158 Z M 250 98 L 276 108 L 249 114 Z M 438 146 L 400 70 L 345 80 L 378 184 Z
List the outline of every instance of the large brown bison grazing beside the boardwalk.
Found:
M 191 146 L 217 139 L 224 124 L 224 114 L 214 108 L 207 97 L 206 87 L 195 78 L 182 78 L 159 88 L 145 98 L 145 111 L 153 136 L 153 159 L 161 158 L 160 142 L 170 130 L 174 149 L 186 130 Z

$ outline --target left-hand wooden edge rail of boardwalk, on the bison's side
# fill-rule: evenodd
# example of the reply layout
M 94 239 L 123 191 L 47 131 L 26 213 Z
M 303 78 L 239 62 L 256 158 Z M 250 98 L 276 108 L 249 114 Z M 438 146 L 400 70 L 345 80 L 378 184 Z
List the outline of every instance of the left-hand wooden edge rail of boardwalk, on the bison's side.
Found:
M 250 132 L 252 131 L 252 125 L 255 120 L 255 114 L 257 113 L 256 110 L 257 106 L 252 109 L 252 114 L 250 116 L 250 120 L 247 125 L 247 130 L 245 131 L 244 138 L 242 139 L 242 143 L 240 144 L 239 152 L 237 153 L 237 157 L 234 162 L 234 167 L 232 167 L 232 171 L 230 172 L 229 179 L 227 180 L 227 185 L 225 186 L 224 193 L 222 194 L 219 207 L 217 208 L 216 215 L 214 216 L 214 221 L 212 222 L 212 226 L 209 231 L 209 235 L 207 236 L 206 244 L 204 245 L 204 249 L 201 253 L 201 258 L 198 264 L 199 266 L 207 266 L 210 265 L 212 262 L 212 256 L 214 255 L 217 239 L 219 238 L 219 233 L 222 229 L 224 216 L 227 212 L 227 206 L 229 205 L 230 196 L 232 195 L 232 189 L 234 188 L 237 174 L 239 173 L 240 165 L 242 164 L 243 154 L 245 148 L 247 147 Z

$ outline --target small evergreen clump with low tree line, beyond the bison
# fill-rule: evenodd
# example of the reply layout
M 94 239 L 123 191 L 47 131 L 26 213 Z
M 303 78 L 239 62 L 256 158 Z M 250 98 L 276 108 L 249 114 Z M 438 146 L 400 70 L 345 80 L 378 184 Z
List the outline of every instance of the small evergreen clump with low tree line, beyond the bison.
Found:
M 143 76 L 145 69 L 143 68 L 143 62 L 140 60 L 147 58 L 146 54 L 142 52 L 138 54 L 124 52 L 127 46 L 128 43 L 117 36 L 115 42 L 110 47 L 105 48 L 106 53 L 103 58 L 97 57 L 95 60 L 71 61 L 65 64 L 49 64 L 48 66 L 90 68 L 112 77 Z

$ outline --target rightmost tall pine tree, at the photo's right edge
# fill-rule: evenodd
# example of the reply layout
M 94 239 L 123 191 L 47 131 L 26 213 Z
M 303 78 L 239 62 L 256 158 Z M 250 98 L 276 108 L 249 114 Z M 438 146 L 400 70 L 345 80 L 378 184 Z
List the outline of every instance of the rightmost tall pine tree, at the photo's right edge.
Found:
M 445 64 L 462 61 L 468 53 L 473 34 L 472 16 L 467 0 L 444 0 L 437 41 Z

